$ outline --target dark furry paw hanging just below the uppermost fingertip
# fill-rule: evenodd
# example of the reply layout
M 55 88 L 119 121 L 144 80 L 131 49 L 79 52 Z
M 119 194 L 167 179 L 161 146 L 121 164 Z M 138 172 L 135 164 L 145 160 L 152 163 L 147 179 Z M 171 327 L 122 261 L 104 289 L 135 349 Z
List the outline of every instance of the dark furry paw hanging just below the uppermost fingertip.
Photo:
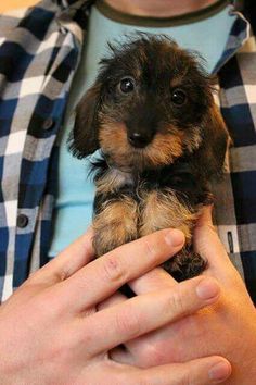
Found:
M 193 250 L 187 249 L 163 263 L 163 268 L 178 282 L 200 275 L 206 266 L 207 261 Z

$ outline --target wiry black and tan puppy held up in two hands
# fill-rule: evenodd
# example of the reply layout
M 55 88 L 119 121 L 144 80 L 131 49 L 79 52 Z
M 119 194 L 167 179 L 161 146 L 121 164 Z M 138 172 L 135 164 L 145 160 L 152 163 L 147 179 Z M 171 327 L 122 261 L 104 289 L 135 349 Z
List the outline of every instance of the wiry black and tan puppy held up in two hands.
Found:
M 71 137 L 79 159 L 101 150 L 93 165 L 95 254 L 175 227 L 185 246 L 164 269 L 178 281 L 195 276 L 206 262 L 192 249 L 193 227 L 212 199 L 209 181 L 222 173 L 229 138 L 213 78 L 165 36 L 140 34 L 110 47 Z

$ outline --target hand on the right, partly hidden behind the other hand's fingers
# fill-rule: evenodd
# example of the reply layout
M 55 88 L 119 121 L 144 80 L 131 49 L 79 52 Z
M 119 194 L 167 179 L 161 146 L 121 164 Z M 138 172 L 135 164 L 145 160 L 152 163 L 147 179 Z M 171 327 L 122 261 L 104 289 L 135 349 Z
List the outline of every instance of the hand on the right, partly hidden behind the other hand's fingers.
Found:
M 194 248 L 208 261 L 204 276 L 219 283 L 218 302 L 126 344 L 126 355 L 114 349 L 112 356 L 119 362 L 146 368 L 221 355 L 232 364 L 228 385 L 253 385 L 256 382 L 256 310 L 216 234 L 210 208 L 204 210 L 195 228 Z M 162 269 L 155 269 L 130 284 L 138 295 L 177 285 Z M 118 296 L 112 302 L 123 300 Z M 187 298 L 179 297 L 178 302 L 185 311 Z

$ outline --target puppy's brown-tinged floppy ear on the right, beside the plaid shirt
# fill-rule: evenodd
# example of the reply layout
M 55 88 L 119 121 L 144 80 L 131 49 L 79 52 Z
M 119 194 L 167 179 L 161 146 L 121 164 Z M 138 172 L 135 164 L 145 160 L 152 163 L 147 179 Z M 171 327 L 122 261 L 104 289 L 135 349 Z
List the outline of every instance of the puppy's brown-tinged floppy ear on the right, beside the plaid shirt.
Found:
M 209 107 L 202 126 L 203 142 L 196 153 L 197 166 L 207 178 L 220 176 L 230 137 L 217 105 Z

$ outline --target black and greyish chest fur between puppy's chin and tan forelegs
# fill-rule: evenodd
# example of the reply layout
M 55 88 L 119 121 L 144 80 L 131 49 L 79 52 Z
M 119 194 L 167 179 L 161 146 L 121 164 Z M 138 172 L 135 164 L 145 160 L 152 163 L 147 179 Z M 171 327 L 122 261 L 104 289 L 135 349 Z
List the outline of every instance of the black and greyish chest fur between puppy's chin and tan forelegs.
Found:
M 102 157 L 94 164 L 97 185 L 97 197 L 94 201 L 95 212 L 102 201 L 118 198 L 120 194 L 132 197 L 140 203 L 145 192 L 154 190 L 171 190 L 174 194 L 190 201 L 190 206 L 194 207 L 205 200 L 205 191 L 207 190 L 205 182 L 191 170 L 187 159 L 177 161 L 171 165 L 166 165 L 158 170 L 144 170 L 143 172 L 123 171 L 115 166 L 110 166 L 107 161 Z

